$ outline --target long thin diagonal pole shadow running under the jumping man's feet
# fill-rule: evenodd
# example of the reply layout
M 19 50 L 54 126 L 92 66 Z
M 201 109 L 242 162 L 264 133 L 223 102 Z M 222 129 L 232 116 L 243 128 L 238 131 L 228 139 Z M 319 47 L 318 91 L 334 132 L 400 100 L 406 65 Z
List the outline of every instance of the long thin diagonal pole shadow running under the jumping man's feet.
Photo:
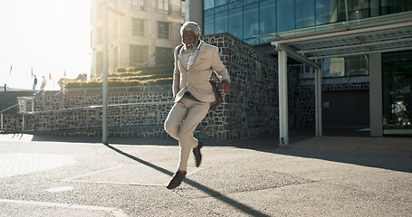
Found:
M 162 167 L 159 167 L 158 165 L 153 165 L 153 164 L 151 164 L 151 163 L 149 163 L 145 160 L 140 159 L 139 157 L 131 156 L 128 153 L 125 153 L 125 152 L 121 151 L 120 149 L 118 149 L 114 146 L 110 146 L 110 145 L 105 145 L 105 146 L 109 147 L 111 150 L 113 150 L 113 151 L 115 151 L 115 152 L 117 152 L 117 153 L 119 153 L 123 156 L 127 156 L 130 159 L 139 162 L 140 164 L 148 165 L 148 166 L 158 170 L 159 172 L 161 172 L 163 174 L 170 175 L 170 176 L 174 175 L 172 172 L 170 172 L 170 171 L 168 171 L 168 170 L 166 170 Z M 244 205 L 243 203 L 236 202 L 235 200 L 230 199 L 230 198 L 226 197 L 225 195 L 223 195 L 222 193 L 218 193 L 215 190 L 213 190 L 211 188 L 208 188 L 207 186 L 205 186 L 203 184 L 199 184 L 199 183 L 197 183 L 193 180 L 187 179 L 187 178 L 184 179 L 184 182 L 196 187 L 197 189 L 209 194 L 210 196 L 215 197 L 216 199 L 218 199 L 218 200 L 220 200 L 224 203 L 227 203 L 227 204 L 235 207 L 236 209 L 238 209 L 242 212 L 245 212 L 245 213 L 250 214 L 252 216 L 268 216 L 268 215 L 264 214 L 263 212 L 259 212 L 259 211 L 254 210 L 253 208 L 251 208 L 247 205 Z

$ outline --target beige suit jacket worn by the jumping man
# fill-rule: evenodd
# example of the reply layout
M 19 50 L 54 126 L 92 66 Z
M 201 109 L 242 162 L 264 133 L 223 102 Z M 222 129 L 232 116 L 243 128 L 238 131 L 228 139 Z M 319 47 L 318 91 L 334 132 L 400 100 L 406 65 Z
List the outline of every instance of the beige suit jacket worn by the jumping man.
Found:
M 202 42 L 195 63 L 187 70 L 182 58 L 183 47 L 179 50 L 175 48 L 175 71 L 173 73 L 173 96 L 175 102 L 182 99 L 183 95 L 189 91 L 196 99 L 203 102 L 215 101 L 212 85 L 209 79 L 215 71 L 219 80 L 230 82 L 229 72 L 220 60 L 216 46 Z

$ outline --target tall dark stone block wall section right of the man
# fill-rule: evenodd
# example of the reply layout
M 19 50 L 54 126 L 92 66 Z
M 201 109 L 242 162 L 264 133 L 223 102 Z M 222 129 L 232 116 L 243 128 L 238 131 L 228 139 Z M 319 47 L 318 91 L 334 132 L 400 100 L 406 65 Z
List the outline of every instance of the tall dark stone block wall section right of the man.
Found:
M 203 126 L 214 124 L 206 127 L 206 133 L 217 129 L 215 138 L 235 139 L 275 132 L 279 123 L 277 61 L 228 33 L 207 35 L 203 40 L 219 48 L 232 86 L 224 96 L 224 109 L 202 122 Z

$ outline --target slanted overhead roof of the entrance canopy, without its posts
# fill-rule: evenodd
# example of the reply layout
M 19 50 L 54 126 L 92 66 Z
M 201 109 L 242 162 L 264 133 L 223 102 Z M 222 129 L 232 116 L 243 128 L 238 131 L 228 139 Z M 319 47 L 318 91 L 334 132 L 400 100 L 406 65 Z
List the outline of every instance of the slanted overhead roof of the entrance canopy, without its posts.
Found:
M 272 37 L 271 37 L 272 35 Z M 260 35 L 311 60 L 412 49 L 412 12 Z

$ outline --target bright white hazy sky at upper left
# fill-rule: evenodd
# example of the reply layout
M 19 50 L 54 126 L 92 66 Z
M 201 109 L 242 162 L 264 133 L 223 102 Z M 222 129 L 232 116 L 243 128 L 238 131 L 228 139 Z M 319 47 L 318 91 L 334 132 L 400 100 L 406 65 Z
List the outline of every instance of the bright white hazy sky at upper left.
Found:
M 0 86 L 31 90 L 32 68 L 36 89 L 43 76 L 45 90 L 60 90 L 64 72 L 90 77 L 90 13 L 90 0 L 0 0 Z

